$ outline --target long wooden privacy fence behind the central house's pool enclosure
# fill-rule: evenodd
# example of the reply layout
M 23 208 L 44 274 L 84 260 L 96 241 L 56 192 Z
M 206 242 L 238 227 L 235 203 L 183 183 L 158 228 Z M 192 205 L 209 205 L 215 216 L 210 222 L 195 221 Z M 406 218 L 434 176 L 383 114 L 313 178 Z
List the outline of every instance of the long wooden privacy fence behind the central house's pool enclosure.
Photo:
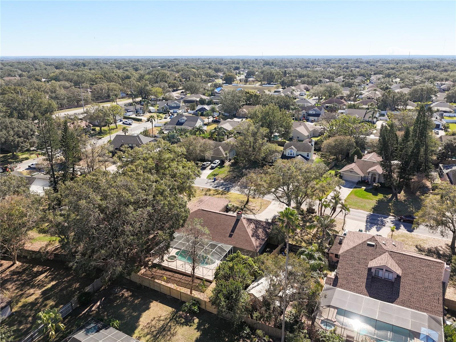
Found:
M 135 273 L 132 273 L 130 275 L 130 277 L 126 277 L 126 278 L 130 279 L 131 281 L 134 281 L 135 283 L 147 286 L 152 290 L 157 290 L 161 293 L 164 293 L 165 295 L 170 295 L 171 297 L 174 297 L 180 301 L 185 301 L 185 302 L 192 301 L 192 300 L 197 301 L 198 303 L 200 303 L 200 307 L 202 309 L 212 312 L 214 314 L 217 314 L 217 308 L 215 306 L 212 306 L 212 304 L 210 302 L 204 301 L 201 298 L 189 295 L 188 293 L 182 292 L 175 288 L 172 288 L 171 286 L 161 284 L 160 282 L 155 281 L 155 279 L 147 278 L 143 275 L 138 275 Z M 222 316 L 225 319 L 231 320 L 231 316 L 229 316 L 229 315 L 223 314 L 220 316 Z M 266 333 L 266 335 L 268 335 L 270 337 L 275 337 L 275 338 L 281 337 L 282 332 L 280 329 L 277 329 L 273 326 L 268 326 L 267 324 L 252 320 L 249 317 L 244 317 L 244 321 L 247 323 L 248 326 L 250 326 L 254 329 L 263 330 Z

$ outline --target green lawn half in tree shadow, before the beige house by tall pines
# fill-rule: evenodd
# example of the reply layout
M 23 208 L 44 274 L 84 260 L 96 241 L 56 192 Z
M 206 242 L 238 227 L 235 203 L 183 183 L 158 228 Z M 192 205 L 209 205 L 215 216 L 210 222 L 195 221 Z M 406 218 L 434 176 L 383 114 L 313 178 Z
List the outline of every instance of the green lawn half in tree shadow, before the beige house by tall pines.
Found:
M 402 192 L 399 200 L 390 200 L 391 190 L 381 187 L 378 192 L 371 189 L 355 188 L 350 192 L 345 203 L 352 209 L 375 212 L 383 215 L 414 214 L 421 208 L 420 194 Z

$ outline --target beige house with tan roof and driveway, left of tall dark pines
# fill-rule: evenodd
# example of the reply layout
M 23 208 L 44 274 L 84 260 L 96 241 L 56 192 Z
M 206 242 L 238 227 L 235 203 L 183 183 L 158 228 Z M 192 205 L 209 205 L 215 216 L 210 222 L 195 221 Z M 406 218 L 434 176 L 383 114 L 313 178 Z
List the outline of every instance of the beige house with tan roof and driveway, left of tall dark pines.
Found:
M 355 161 L 342 167 L 339 173 L 346 181 L 383 183 L 383 171 L 379 163 L 381 160 L 382 158 L 375 152 L 364 155 L 362 159 L 358 159 L 355 155 Z

